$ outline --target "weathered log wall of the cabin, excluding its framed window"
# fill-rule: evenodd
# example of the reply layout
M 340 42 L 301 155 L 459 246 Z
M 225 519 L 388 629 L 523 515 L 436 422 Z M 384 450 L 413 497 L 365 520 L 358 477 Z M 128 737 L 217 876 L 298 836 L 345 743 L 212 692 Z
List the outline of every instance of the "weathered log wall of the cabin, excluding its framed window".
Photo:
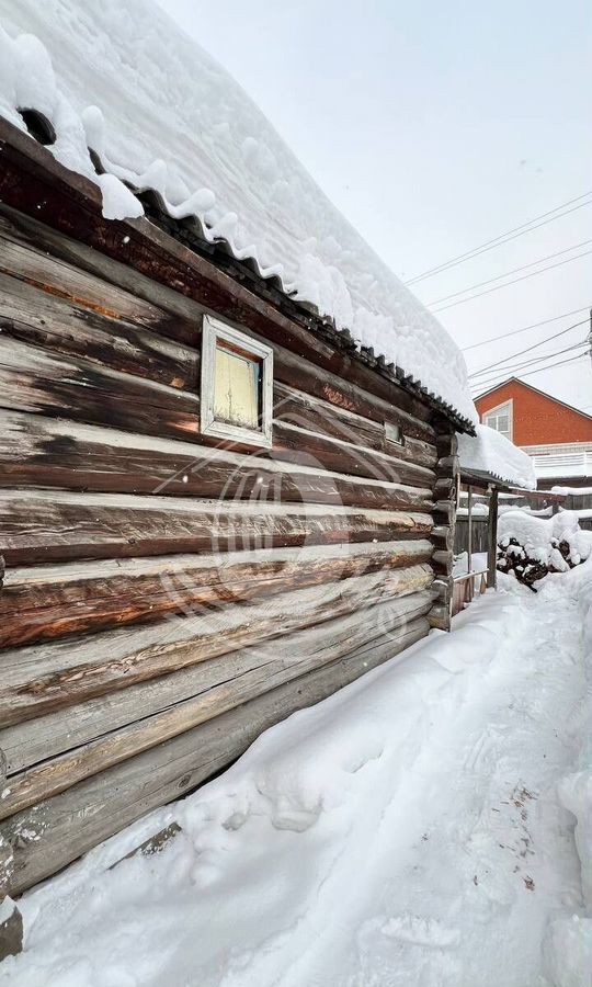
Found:
M 447 626 L 449 422 L 298 327 L 299 352 L 192 294 L 0 207 L 12 894 Z M 271 449 L 200 434 L 204 311 L 273 347 Z

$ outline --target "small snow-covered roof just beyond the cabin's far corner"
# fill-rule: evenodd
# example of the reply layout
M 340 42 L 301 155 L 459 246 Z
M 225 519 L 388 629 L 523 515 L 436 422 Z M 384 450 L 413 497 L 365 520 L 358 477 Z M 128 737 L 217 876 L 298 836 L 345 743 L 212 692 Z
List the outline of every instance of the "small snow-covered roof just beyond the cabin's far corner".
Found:
M 478 424 L 476 435 L 458 435 L 460 472 L 487 474 L 511 487 L 536 490 L 533 461 L 505 435 Z

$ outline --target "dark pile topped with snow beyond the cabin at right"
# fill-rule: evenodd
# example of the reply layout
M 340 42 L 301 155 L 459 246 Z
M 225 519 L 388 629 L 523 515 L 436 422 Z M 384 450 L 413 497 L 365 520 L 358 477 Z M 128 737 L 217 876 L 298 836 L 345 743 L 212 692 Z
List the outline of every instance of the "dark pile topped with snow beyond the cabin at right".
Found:
M 505 511 L 498 522 L 498 569 L 536 592 L 548 572 L 567 572 L 592 552 L 592 533 L 581 531 L 577 511 L 549 519 L 524 510 Z

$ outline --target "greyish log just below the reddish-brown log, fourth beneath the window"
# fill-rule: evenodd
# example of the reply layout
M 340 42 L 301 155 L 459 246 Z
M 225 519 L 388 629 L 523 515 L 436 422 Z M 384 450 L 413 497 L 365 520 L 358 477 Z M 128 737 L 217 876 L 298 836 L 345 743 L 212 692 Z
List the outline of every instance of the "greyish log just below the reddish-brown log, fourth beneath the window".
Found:
M 141 628 L 125 627 L 86 635 L 77 642 L 57 640 L 5 651 L 0 725 L 41 716 L 265 638 L 363 611 L 390 597 L 424 590 L 432 579 L 432 567 L 422 564 L 293 590 L 270 600 L 196 610 L 190 616 Z M 360 613 L 358 620 L 363 623 Z M 5 735 L 0 746 L 8 756 Z

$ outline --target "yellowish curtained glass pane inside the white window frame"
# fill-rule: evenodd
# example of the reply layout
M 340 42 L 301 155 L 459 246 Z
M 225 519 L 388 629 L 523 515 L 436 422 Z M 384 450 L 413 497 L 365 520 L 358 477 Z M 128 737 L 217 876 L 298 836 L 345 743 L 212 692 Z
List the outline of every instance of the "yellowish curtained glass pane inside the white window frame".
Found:
M 258 360 L 216 347 L 214 417 L 218 421 L 259 428 L 261 364 Z

